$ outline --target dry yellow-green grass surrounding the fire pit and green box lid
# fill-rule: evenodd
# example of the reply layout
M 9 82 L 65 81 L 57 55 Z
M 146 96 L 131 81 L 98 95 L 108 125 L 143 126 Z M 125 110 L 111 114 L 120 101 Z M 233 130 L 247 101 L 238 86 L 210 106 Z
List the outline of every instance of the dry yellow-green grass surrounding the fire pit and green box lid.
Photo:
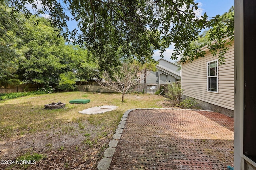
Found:
M 88 104 L 69 104 L 69 100 L 83 98 L 86 96 L 91 100 Z M 44 94 L 37 96 L 26 96 L 22 98 L 0 102 L 0 138 L 20 135 L 20 133 L 35 133 L 47 130 L 50 127 L 61 127 L 63 123 L 78 123 L 81 130 L 85 128 L 84 120 L 91 125 L 113 125 L 112 120 L 117 119 L 124 111 L 131 108 L 160 107 L 157 102 L 162 100 L 161 96 L 126 95 L 126 100 L 121 102 L 119 94 L 93 94 L 90 92 L 66 92 Z M 61 101 L 66 103 L 64 109 L 44 109 L 45 104 Z M 105 114 L 84 115 L 78 111 L 94 106 L 114 105 L 119 106 L 115 111 Z M 72 126 L 62 127 L 64 131 L 72 130 Z

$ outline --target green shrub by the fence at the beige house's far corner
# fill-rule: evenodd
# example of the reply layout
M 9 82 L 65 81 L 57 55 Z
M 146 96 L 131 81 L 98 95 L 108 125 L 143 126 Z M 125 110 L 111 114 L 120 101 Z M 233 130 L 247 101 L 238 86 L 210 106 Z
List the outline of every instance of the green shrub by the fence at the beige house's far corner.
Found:
M 180 97 L 182 96 L 183 90 L 181 88 L 181 83 L 180 82 L 175 82 L 168 84 L 167 86 L 168 93 L 165 94 L 168 98 L 170 98 L 174 104 L 179 104 L 180 102 Z

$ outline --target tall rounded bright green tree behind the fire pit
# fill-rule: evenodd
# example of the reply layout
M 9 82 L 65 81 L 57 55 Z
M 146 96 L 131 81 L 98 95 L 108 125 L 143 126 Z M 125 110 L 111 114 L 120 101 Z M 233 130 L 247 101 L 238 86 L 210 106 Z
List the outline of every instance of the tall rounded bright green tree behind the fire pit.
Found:
M 26 59 L 20 61 L 23 82 L 58 82 L 58 76 L 64 68 L 60 64 L 64 40 L 57 37 L 54 28 L 44 18 L 32 16 L 25 25 L 26 29 L 20 38 L 29 50 L 24 53 Z

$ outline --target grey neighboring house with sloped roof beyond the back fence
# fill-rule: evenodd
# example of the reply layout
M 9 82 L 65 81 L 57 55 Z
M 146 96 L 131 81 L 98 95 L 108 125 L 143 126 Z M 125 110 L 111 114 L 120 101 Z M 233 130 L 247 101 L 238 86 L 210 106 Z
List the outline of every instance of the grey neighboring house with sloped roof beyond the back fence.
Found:
M 166 84 L 180 80 L 180 66 L 165 59 L 159 59 L 157 71 L 147 71 L 146 84 Z M 145 82 L 144 74 L 140 74 L 140 82 Z

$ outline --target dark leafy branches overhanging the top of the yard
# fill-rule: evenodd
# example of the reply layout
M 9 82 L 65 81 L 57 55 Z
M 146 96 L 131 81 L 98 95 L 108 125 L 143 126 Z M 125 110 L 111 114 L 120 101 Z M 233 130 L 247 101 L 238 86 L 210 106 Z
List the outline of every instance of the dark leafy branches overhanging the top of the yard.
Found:
M 143 61 L 144 56 L 151 59 L 154 50 L 164 52 L 173 44 L 172 59 L 183 55 L 193 61 L 204 57 L 204 51 L 200 51 L 201 46 L 191 48 L 190 42 L 198 39 L 202 29 L 212 28 L 211 40 L 216 43 L 209 43 L 209 48 L 214 54 L 221 49 L 218 55 L 222 62 L 227 50 L 225 38 L 234 38 L 234 15 L 197 16 L 198 3 L 194 0 L 8 0 L 13 12 L 30 15 L 27 4 L 32 4 L 37 14 L 48 14 L 66 39 L 71 37 L 100 57 L 104 51 L 119 49 L 122 57 Z M 68 30 L 67 11 L 80 31 Z

